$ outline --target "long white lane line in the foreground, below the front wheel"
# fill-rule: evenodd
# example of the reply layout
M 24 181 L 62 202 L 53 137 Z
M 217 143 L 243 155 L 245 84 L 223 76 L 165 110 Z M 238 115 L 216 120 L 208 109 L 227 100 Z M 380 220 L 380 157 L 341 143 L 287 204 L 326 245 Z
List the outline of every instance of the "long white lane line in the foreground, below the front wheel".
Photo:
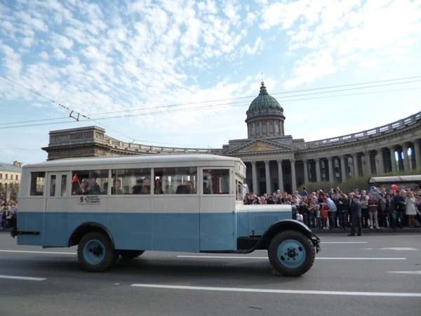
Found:
M 304 290 L 286 290 L 286 289 L 249 289 L 249 288 L 241 288 L 241 287 L 186 287 L 186 286 L 182 286 L 182 285 L 142 284 L 142 283 L 131 284 L 131 287 L 145 287 L 145 288 L 152 288 L 152 289 L 180 289 L 180 290 L 196 290 L 196 291 L 273 293 L 273 294 L 421 297 L 421 293 L 357 292 L 357 291 L 304 291 Z

